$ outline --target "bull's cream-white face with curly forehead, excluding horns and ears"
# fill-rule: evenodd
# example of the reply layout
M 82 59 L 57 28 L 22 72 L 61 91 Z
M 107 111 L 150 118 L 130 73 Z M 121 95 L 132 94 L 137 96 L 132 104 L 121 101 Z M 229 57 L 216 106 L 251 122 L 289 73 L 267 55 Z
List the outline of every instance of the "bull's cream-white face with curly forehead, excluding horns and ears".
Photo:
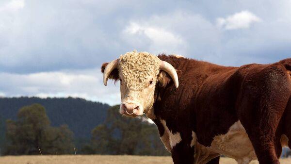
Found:
M 149 53 L 129 52 L 120 56 L 120 114 L 138 116 L 152 108 L 159 69 L 160 59 Z

